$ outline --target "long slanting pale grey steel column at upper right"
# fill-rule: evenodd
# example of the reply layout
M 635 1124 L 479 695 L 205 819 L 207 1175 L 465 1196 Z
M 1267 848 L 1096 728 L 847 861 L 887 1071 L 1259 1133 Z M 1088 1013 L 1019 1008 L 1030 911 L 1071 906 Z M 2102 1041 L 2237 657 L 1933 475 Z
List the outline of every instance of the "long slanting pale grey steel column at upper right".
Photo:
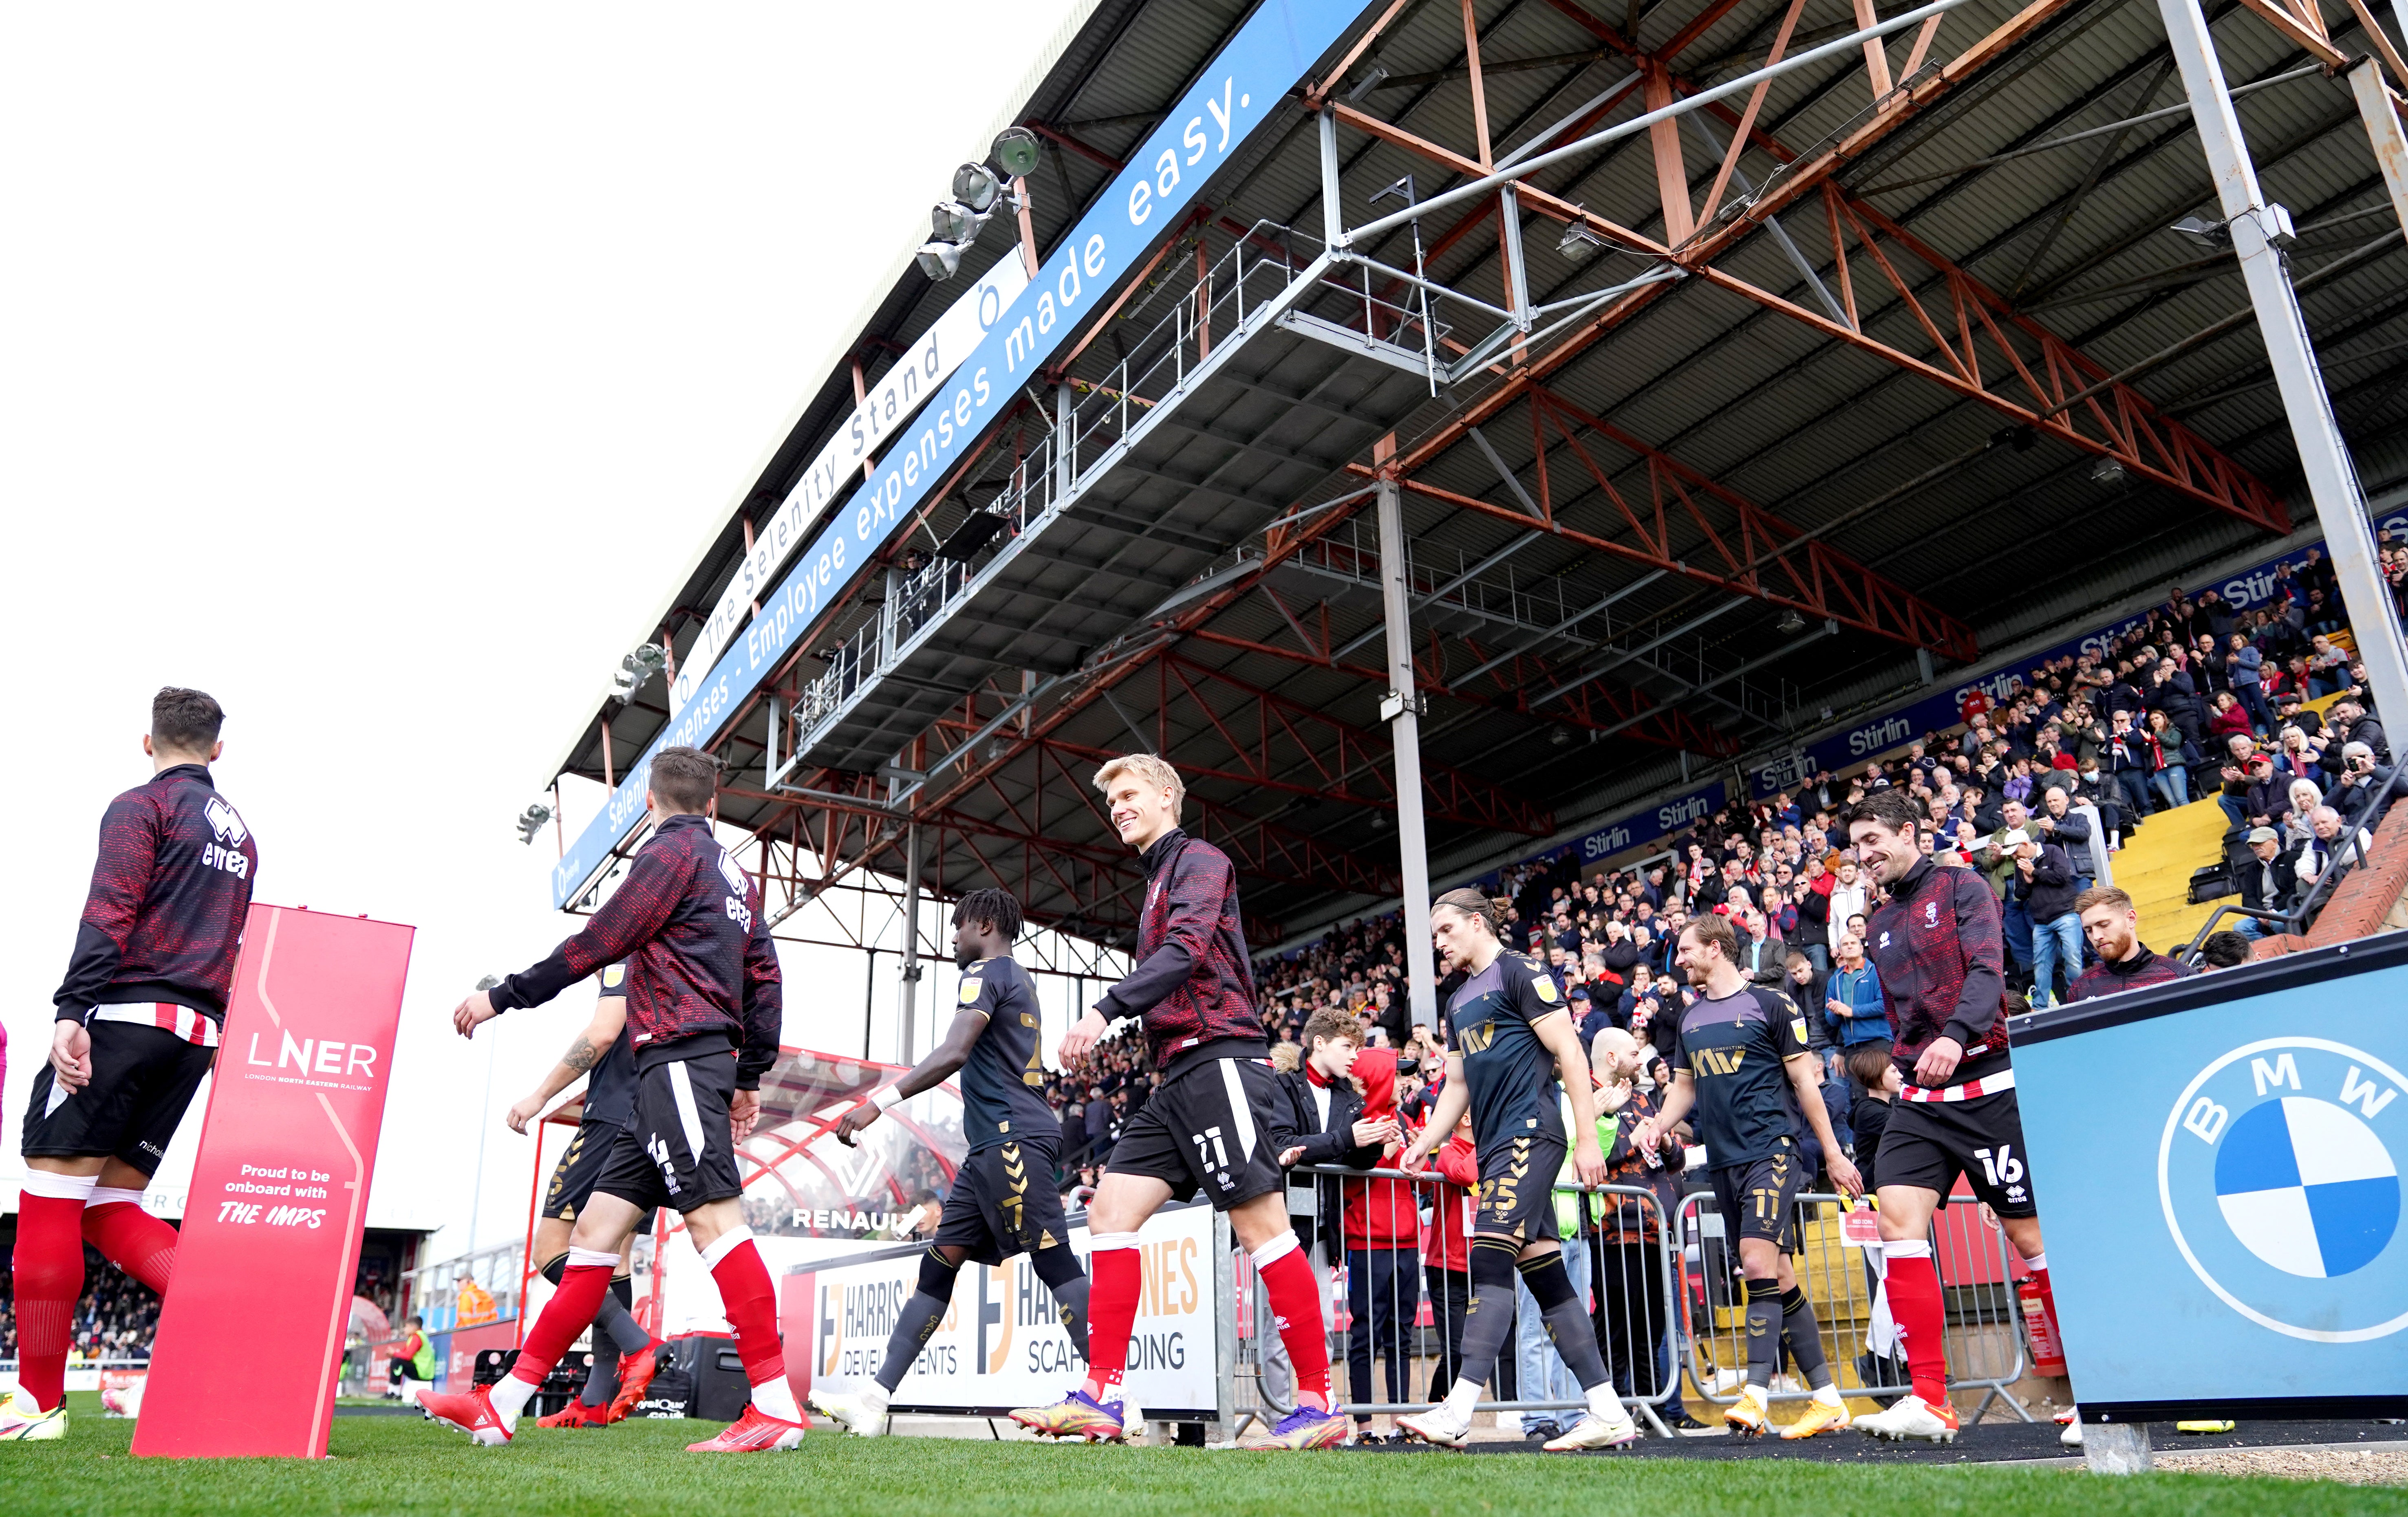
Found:
M 2276 390 L 2283 395 L 2283 412 L 2290 417 L 2290 433 L 2300 445 L 2300 470 L 2307 474 L 2307 494 L 2316 503 L 2316 520 L 2324 525 L 2324 542 L 2333 554 L 2341 602 L 2350 609 L 2350 626 L 2360 628 L 2357 653 L 2367 662 L 2367 684 L 2377 708 L 2391 720 L 2401 720 L 2408 715 L 2408 645 L 2396 631 L 2391 592 L 2374 556 L 2367 498 L 2357 489 L 2357 470 L 2341 443 L 2341 424 L 2324 392 L 2324 371 L 2316 368 L 2316 352 L 2307 340 L 2300 296 L 2290 287 L 2283 250 L 2268 241 L 2276 219 L 2259 190 L 2249 142 L 2242 137 L 2239 116 L 2225 89 L 2225 67 L 2215 58 L 2208 17 L 2201 14 L 2199 0 L 2158 0 L 2158 14 L 2165 17 L 2174 63 L 2182 65 L 2182 87 L 2191 96 L 2191 118 L 2199 123 L 2199 147 L 2208 154 L 2215 200 L 2223 205 L 2225 229 L 2239 255 L 2249 303 L 2256 308 L 2259 332 L 2266 340 Z

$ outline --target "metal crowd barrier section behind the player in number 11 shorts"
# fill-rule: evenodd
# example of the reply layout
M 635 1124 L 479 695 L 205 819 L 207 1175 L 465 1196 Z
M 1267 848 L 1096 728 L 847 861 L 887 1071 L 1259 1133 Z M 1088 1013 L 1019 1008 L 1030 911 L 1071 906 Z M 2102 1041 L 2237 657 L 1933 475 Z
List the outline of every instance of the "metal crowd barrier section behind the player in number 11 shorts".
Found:
M 1905 1351 L 1895 1348 L 1895 1336 L 1885 1332 L 1888 1305 L 1881 1298 L 1876 1250 L 1845 1240 L 1840 1197 L 1801 1194 L 1796 1209 L 1804 1252 L 1792 1257 L 1792 1267 L 1813 1305 L 1835 1382 L 1849 1397 L 1876 1397 L 1883 1404 L 1907 1394 L 1912 1382 Z M 1678 1218 L 1683 1305 L 1690 1322 L 1688 1373 L 1700 1397 L 1729 1406 L 1739 1399 L 1748 1368 L 1739 1247 L 1724 1230 L 1710 1190 L 1681 1197 Z M 1934 1216 L 1931 1262 L 1948 1305 L 1948 1385 L 1984 1392 L 1970 1423 L 1982 1421 L 1991 1401 L 2006 1401 L 2018 1418 L 2032 1421 L 2006 1389 L 2025 1368 L 2023 1308 L 2015 1300 L 2011 1257 L 2006 1233 L 1984 1223 L 1972 1202 L 1958 1199 L 1946 1214 Z M 1893 1351 L 1876 1351 L 1876 1341 Z M 1811 1394 L 1804 1377 L 1784 1360 L 1770 1399 L 1804 1401 Z

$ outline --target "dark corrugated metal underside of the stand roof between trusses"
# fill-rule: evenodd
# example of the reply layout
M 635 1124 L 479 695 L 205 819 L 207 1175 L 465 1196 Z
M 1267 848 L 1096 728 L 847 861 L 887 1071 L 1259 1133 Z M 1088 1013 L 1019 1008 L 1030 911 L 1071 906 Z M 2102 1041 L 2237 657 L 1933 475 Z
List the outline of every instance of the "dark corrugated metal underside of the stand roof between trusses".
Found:
M 1633 63 L 1618 39 L 1601 36 L 1623 24 L 1623 12 L 1611 7 L 1609 14 L 1609 7 L 1589 5 L 1597 24 L 1587 26 L 1565 14 L 1577 7 L 1580 0 L 1474 5 L 1495 152 L 1527 142 L 1630 77 Z M 1141 140 L 1153 123 L 1151 113 L 1175 99 L 1247 10 L 1235 0 L 1151 5 L 1105 0 L 1091 7 L 1079 34 L 1031 89 L 1019 113 L 1045 120 L 1057 142 L 1076 144 L 1052 147 L 1052 161 L 1040 169 L 1040 241 L 1069 224 L 1084 200 L 1105 183 L 1108 161 L 1117 161 L 1117 154 Z M 1385 7 L 1373 7 L 1377 10 Z M 1640 43 L 1664 46 L 1705 10 L 1705 0 L 1654 5 L 1640 22 Z M 1895 7 L 1890 10 L 1895 14 Z M 1782 0 L 1734 5 L 1671 60 L 1674 72 L 1705 87 L 1755 67 L 1784 14 Z M 1967 0 L 1948 12 L 1931 60 L 1955 58 L 1975 39 L 2011 24 L 2018 14 L 2020 7 L 2008 0 Z M 2211 5 L 2211 17 L 2235 84 L 2273 79 L 2302 65 L 2297 51 L 2237 2 Z M 1842 12 L 1828 5 L 1811 7 L 1792 53 L 1840 36 L 1847 26 Z M 2336 34 L 2336 41 L 2350 46 L 2350 34 Z M 1893 36 L 1888 53 L 1902 63 L 1910 46 L 1910 36 Z M 2213 248 L 2170 231 L 2172 222 L 2186 214 L 2211 219 L 2215 214 L 2186 118 L 2141 123 L 2121 137 L 2088 137 L 2003 161 L 1989 159 L 2141 111 L 2179 106 L 2182 82 L 2167 72 L 2165 60 L 2155 7 L 2136 0 L 2064 0 L 2001 48 L 1987 67 L 1967 75 L 1936 104 L 1910 113 L 1905 125 L 1845 164 L 1832 183 L 1854 202 L 1905 226 L 1965 277 L 1999 291 L 2013 318 L 2032 323 L 2035 332 L 2047 330 L 2073 344 L 2102 371 L 2121 371 L 2247 303 L 2230 258 L 2218 258 Z M 1370 67 L 1387 70 L 1385 84 L 1368 89 L 1361 108 L 1450 152 L 1476 154 L 1464 63 L 1459 7 L 1413 5 L 1370 58 L 1356 65 L 1353 79 L 1365 77 Z M 1630 92 L 1601 123 L 1630 120 L 1642 108 L 1642 94 Z M 1861 63 L 1835 60 L 1780 77 L 1767 89 L 1758 130 L 1789 152 L 1811 157 L 1825 140 L 1861 125 L 1869 108 L 1871 89 Z M 2242 96 L 2237 108 L 2268 195 L 2283 200 L 2302 226 L 2300 246 L 2292 250 L 2295 277 L 2307 279 L 2316 267 L 2384 231 L 2396 234 L 2396 224 L 2384 217 L 2338 219 L 2384 205 L 2345 79 L 2321 75 L 2288 79 Z M 1729 120 L 1702 120 L 1714 140 L 1727 140 Z M 1353 128 L 1341 128 L 1339 137 L 1344 217 L 1351 224 L 1373 214 L 1368 205 L 1373 190 L 1406 173 L 1421 195 L 1459 181 L 1445 166 Z M 1717 157 L 1690 128 L 1681 132 L 1681 149 L 1690 190 L 1702 195 Z M 1763 185 L 1782 157 L 1751 144 L 1741 154 L 1739 173 Z M 1050 195 L 1043 193 L 1047 176 L 1060 181 Z M 1664 214 L 1647 135 L 1541 169 L 1531 183 L 1633 231 L 1662 236 Z M 1317 236 L 1320 193 L 1310 118 L 1296 113 L 1296 123 L 1274 132 L 1255 161 L 1218 190 L 1221 224 L 1204 231 L 1206 253 L 1218 258 L 1230 246 L 1228 226 L 1255 222 Z M 1743 195 L 1741 185 L 1734 183 L 1731 195 Z M 1454 214 L 1433 214 L 1423 226 L 1433 279 L 1503 303 L 1507 296 L 1495 219 L 1438 248 L 1454 222 Z M 1837 296 L 1840 270 L 1832 265 L 1823 200 L 1808 193 L 1782 209 L 1780 222 L 1816 277 Z M 1647 267 L 1642 258 L 1611 250 L 1570 260 L 1556 250 L 1556 238 L 1553 222 L 1527 214 L 1524 243 L 1536 301 L 1563 301 Z M 1878 236 L 1878 250 L 1910 279 L 1929 315 L 1955 320 L 1943 275 L 1919 262 L 1890 234 Z M 1399 229 L 1380 238 L 1373 253 L 1392 265 L 1411 265 L 1413 238 Z M 1117 361 L 1117 344 L 1134 340 L 1185 294 L 1192 272 L 1180 272 L 1182 267 L 1180 260 L 1165 265 L 1161 287 L 1129 303 L 1127 318 L 1096 342 L 1074 378 L 1103 383 Z M 1820 311 L 1820 296 L 1770 231 L 1751 231 L 1722 253 L 1714 267 L 1801 308 Z M 1917 361 L 1946 368 L 1948 359 L 1926 335 L 1914 306 L 1895 296 L 1878 260 L 1854 234 L 1849 234 L 1847 270 L 1864 332 Z M 932 315 L 939 301 L 929 299 L 927 287 L 913 287 L 913 279 L 915 275 L 903 277 L 877 303 L 877 315 L 864 323 L 867 332 L 910 332 L 915 320 L 925 323 Z M 1332 320 L 1358 320 L 1346 315 L 1336 294 L 1324 291 L 1312 301 L 1305 308 L 1324 311 Z M 2362 445 L 2360 465 L 2369 486 L 2408 474 L 2408 448 L 2396 443 L 2401 412 L 2408 409 L 2403 405 L 2408 352 L 2396 347 L 2408 340 L 2401 330 L 2408 325 L 2401 323 L 2401 315 L 2408 315 L 2401 253 L 2394 248 L 2350 275 L 2314 284 L 2302 306 L 2326 356 L 2343 431 Z M 2001 313 L 1996 320 L 2006 327 L 2013 318 Z M 1479 323 L 1462 313 L 1450 315 L 1450 323 L 1454 323 L 1450 335 L 1462 342 L 1479 330 Z M 2015 342 L 2025 359 L 2037 364 L 2032 359 L 2037 340 Z M 2011 400 L 2030 400 L 2015 380 L 1999 378 L 1996 349 L 1982 352 L 1984 380 Z M 2292 515 L 2304 520 L 2290 433 L 2278 395 L 2264 378 L 2254 325 L 2242 323 L 2235 332 L 2155 366 L 2133 388 L 2276 494 L 2290 494 Z M 1401 445 L 1411 450 L 1418 438 L 1435 436 L 1500 383 L 1505 380 L 1498 373 L 1486 373 L 1423 407 L 1423 414 L 1399 429 Z M 1955 614 L 1979 633 L 1984 648 L 2013 643 L 2076 614 L 2081 604 L 2112 602 L 2170 568 L 2196 566 L 2215 554 L 2273 539 L 2235 515 L 2146 479 L 2100 482 L 2093 477 L 2093 455 L 2054 436 L 2018 445 L 2008 431 L 2011 419 L 1991 405 L 1912 373 L 1888 356 L 1835 342 L 1828 330 L 1767 311 L 1763 301 L 1705 277 L 1683 279 L 1652 299 L 1604 340 L 1556 366 L 1546 388 L 1563 405 L 1635 436 L 1801 530 L 1828 527 L 1825 542 L 1832 549 Z M 831 380 L 821 402 L 804 409 L 780 458 L 816 445 L 814 429 L 831 424 L 845 397 L 850 388 L 838 395 Z M 1312 431 L 1296 426 L 1293 436 L 1276 436 L 1298 443 Z M 1483 436 L 1515 470 L 1517 482 L 1536 491 L 1529 402 L 1517 400 L 1491 417 Z M 1582 431 L 1580 441 L 1633 508 L 1652 510 L 1642 458 L 1594 431 Z M 1216 467 L 1214 458 L 1221 450 L 1223 443 L 1199 433 L 1182 450 L 1182 467 Z M 1556 431 L 1548 433 L 1548 460 L 1553 508 L 1560 520 L 1628 542 L 1630 527 L 1621 510 Z M 1243 477 L 1257 474 L 1262 472 Z M 1924 484 L 1902 489 L 1926 474 L 1931 477 Z M 1517 508 L 1515 494 L 1500 482 L 1488 455 L 1466 441 L 1421 465 L 1416 479 L 1457 496 Z M 1895 498 L 1864 510 L 1893 491 Z M 1310 491 L 1296 498 L 1296 506 L 1320 498 L 1308 496 Z M 1454 573 L 1452 566 L 1491 556 L 1522 532 L 1495 515 L 1421 494 L 1409 494 L 1404 510 L 1416 566 L 1430 575 Z M 1727 508 L 1710 506 L 1707 513 L 1722 523 L 1717 532 L 1729 530 Z M 949 506 L 932 525 L 944 535 L 954 520 L 958 506 Z M 715 556 L 706 554 L 681 592 L 684 600 L 701 602 L 718 590 L 715 578 L 725 575 L 727 542 L 732 539 L 722 535 Z M 1676 554 L 1700 563 L 1712 559 L 1712 544 L 1693 527 L 1674 530 L 1671 542 Z M 1681 575 L 1647 580 L 1647 573 L 1645 563 L 1541 535 L 1479 583 L 1495 595 L 1556 597 L 1560 604 L 1625 592 L 1609 614 L 1577 628 L 1592 645 L 1628 648 L 1722 604 L 1717 590 Z M 1308 590 L 1310 585 L 1298 592 Z M 1180 657 L 1226 669 L 1250 689 L 1276 691 L 1308 708 L 1373 727 L 1380 698 L 1375 684 L 1344 669 L 1259 650 L 1296 645 L 1291 614 L 1308 619 L 1327 614 L 1336 645 L 1377 626 L 1377 607 L 1358 595 L 1281 607 L 1257 592 L 1230 602 L 1206 621 L 1199 633 L 1211 636 L 1185 641 Z M 855 609 L 838 631 L 850 631 L 862 616 L 867 607 Z M 1746 602 L 1649 657 L 1662 667 L 1712 674 L 1780 655 L 1784 633 L 1777 631 L 1777 607 Z M 1454 638 L 1450 628 L 1430 628 L 1430 657 L 1438 662 L 1433 672 L 1440 684 L 1450 679 L 1450 669 L 1459 672 L 1474 662 L 1479 638 L 1450 641 Z M 1551 648 L 1577 667 L 1575 653 L 1563 643 Z M 1351 662 L 1361 665 L 1377 660 L 1377 638 L 1351 655 Z M 1727 744 L 1741 751 L 1760 751 L 1796 737 L 1784 722 L 1801 720 L 1799 713 L 1813 725 L 1813 713 L 1823 706 L 1847 710 L 1914 679 L 1912 650 L 1861 631 L 1825 636 L 1811 650 L 1775 657 L 1763 672 L 1722 686 L 1710 698 L 1686 698 L 1681 679 L 1647 674 L 1642 667 L 1625 662 L 1616 679 L 1635 691 L 1654 691 L 1652 698 L 1664 698 L 1717 727 Z M 1226 758 L 1228 732 L 1216 730 L 1214 713 L 1180 701 L 1173 696 L 1173 708 L 1163 713 L 1153 693 L 1139 698 L 1132 689 L 1117 710 L 1108 703 L 1081 710 L 1062 727 L 1062 737 L 1110 749 L 1127 744 L 1132 720 L 1149 732 L 1161 722 L 1170 734 L 1173 756 L 1194 754 L 1202 766 Z M 1500 691 L 1498 701 L 1510 701 L 1510 693 Z M 1454 766 L 1483 783 L 1529 795 L 1565 824 L 1678 775 L 1674 754 L 1633 742 L 1630 734 L 1599 744 L 1556 744 L 1548 730 L 1558 720 L 1563 718 L 1553 718 L 1544 706 L 1531 715 L 1515 715 L 1500 710 L 1495 701 L 1479 706 L 1440 691 L 1423 727 L 1426 756 L 1430 763 Z M 657 730 L 657 718 L 641 708 L 624 713 L 614 725 L 616 742 L 628 754 L 650 730 Z M 1035 766 L 1014 763 L 995 775 L 999 795 L 1031 797 L 1043 785 L 1062 783 L 1043 780 Z M 590 744 L 571 751 L 571 766 L 597 771 Z M 1274 821 L 1329 848 L 1394 852 L 1392 833 L 1380 831 L 1373 811 L 1312 807 L 1303 797 L 1267 795 L 1221 780 L 1197 783 L 1194 792 L 1233 814 Z M 975 809 L 985 802 L 963 804 Z M 1052 811 L 1069 809 L 1079 816 L 1081 807 L 1084 802 L 1074 802 Z M 1002 809 L 987 804 L 987 814 L 1002 816 Z M 1088 826 L 1093 833 L 1091 821 L 1060 826 Z M 1093 843 L 1096 836 L 1084 840 Z M 1483 857 L 1505 845 L 1503 833 L 1479 826 L 1433 826 L 1433 855 L 1442 860 Z M 1103 840 L 1103 848 L 1110 848 L 1110 840 Z M 978 872 L 970 860 L 949 867 L 949 881 Z M 1271 881 L 1250 884 L 1247 901 L 1267 917 L 1310 922 L 1361 905 L 1363 896 Z M 1031 905 L 1040 917 L 1062 910 L 1050 901 Z

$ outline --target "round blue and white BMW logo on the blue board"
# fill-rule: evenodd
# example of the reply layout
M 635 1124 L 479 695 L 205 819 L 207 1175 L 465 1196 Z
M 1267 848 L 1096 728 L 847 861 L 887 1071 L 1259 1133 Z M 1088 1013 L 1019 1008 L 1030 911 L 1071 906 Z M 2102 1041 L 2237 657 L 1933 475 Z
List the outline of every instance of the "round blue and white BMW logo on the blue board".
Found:
M 2259 1327 L 2316 1344 L 2408 1329 L 2408 1079 L 2326 1038 L 2201 1069 L 2165 1115 L 2158 1199 L 2184 1262 Z

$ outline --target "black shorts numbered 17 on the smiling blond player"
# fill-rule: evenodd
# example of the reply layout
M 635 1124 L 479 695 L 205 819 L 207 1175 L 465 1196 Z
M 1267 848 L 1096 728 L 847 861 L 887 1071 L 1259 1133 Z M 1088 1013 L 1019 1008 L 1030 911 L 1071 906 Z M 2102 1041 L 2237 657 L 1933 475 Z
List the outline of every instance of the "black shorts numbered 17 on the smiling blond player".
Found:
M 1199 1059 L 1153 1093 L 1112 1144 L 1115 1175 L 1151 1175 L 1173 1199 L 1204 1192 L 1228 1211 L 1286 1190 L 1274 1144 L 1279 1076 L 1264 1059 Z

